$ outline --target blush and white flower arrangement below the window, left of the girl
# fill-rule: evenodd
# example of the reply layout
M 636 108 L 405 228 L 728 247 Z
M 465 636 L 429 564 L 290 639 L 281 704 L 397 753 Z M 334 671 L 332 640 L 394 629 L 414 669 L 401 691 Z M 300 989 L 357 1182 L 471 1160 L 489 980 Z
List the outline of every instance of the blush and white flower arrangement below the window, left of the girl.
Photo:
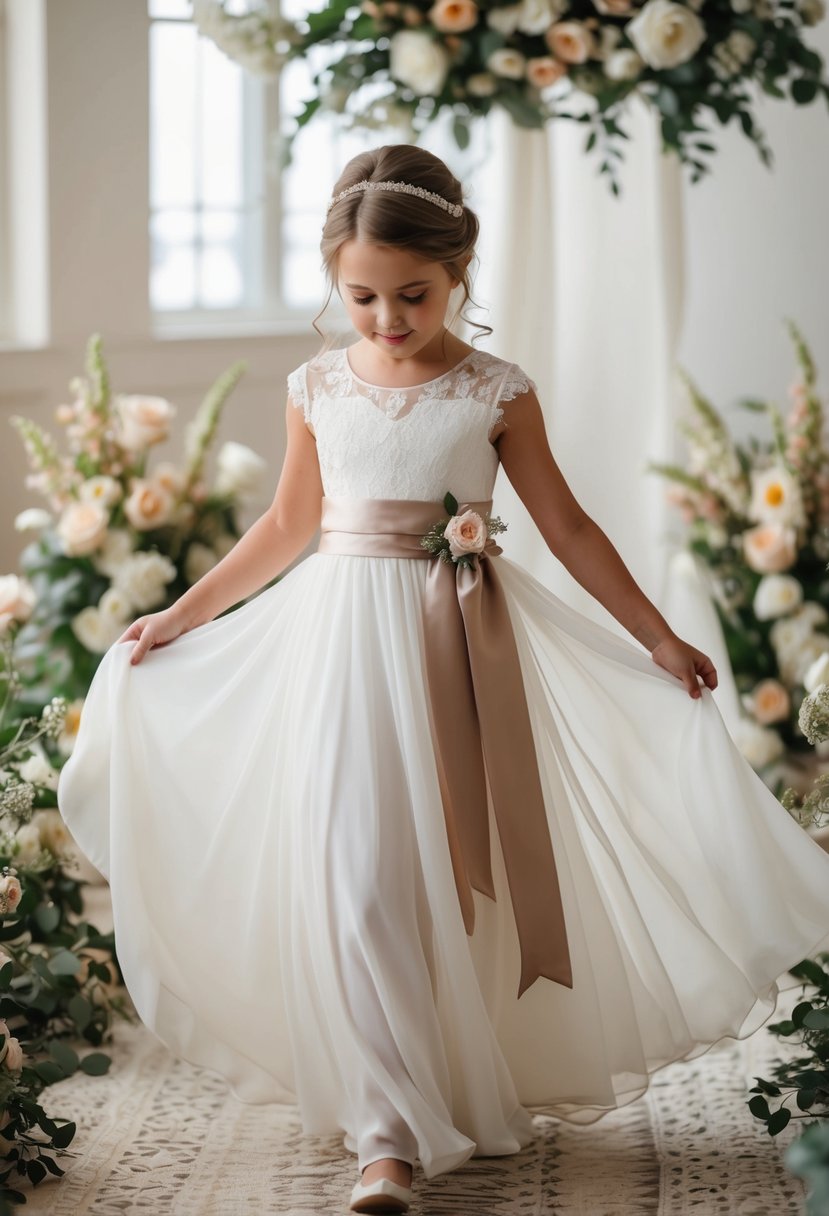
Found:
M 101 655 L 130 620 L 173 603 L 236 544 L 239 502 L 259 485 L 265 461 L 226 443 L 208 486 L 204 465 L 221 410 L 244 370 L 233 364 L 208 390 L 186 432 L 180 465 L 150 452 L 167 439 L 175 406 L 158 396 L 113 394 L 101 339 L 92 336 L 86 377 L 60 405 L 68 454 L 28 418 L 15 416 L 30 465 L 27 486 L 49 500 L 15 525 L 39 537 L 22 554 L 24 581 L 0 579 L 4 619 L 24 612 L 18 640 L 33 704 L 55 692 L 72 703 L 64 745 Z

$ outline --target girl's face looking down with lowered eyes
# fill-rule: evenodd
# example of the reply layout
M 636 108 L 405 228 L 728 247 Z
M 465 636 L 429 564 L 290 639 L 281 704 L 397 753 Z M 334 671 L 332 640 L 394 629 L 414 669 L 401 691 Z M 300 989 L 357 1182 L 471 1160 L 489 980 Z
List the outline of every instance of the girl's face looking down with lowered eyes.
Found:
M 406 249 L 345 241 L 339 249 L 337 291 L 354 328 L 377 350 L 399 359 L 424 353 L 444 332 L 452 278 L 439 261 Z M 389 340 L 385 336 L 399 336 Z

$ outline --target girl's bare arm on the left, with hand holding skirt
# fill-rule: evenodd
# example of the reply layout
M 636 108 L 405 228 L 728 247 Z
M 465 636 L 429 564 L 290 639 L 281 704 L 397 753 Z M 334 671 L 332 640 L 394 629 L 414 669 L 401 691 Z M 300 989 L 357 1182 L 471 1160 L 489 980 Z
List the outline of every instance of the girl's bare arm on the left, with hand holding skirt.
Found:
M 291 398 L 286 407 L 288 446 L 273 501 L 233 548 L 163 612 L 139 617 L 119 642 L 135 640 L 130 663 L 147 651 L 203 625 L 253 595 L 301 553 L 320 527 L 322 479 L 316 439 Z

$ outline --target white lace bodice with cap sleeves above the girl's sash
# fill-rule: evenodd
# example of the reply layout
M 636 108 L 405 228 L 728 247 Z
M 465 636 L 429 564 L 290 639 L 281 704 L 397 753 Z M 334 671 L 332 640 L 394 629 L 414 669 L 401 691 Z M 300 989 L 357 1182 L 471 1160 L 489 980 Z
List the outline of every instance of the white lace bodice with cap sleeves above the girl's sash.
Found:
M 492 429 L 502 402 L 528 388 L 535 382 L 517 364 L 486 350 L 407 388 L 366 383 L 344 347 L 288 376 L 291 400 L 316 437 L 327 497 L 442 501 L 450 490 L 458 502 L 490 499 L 498 471 Z

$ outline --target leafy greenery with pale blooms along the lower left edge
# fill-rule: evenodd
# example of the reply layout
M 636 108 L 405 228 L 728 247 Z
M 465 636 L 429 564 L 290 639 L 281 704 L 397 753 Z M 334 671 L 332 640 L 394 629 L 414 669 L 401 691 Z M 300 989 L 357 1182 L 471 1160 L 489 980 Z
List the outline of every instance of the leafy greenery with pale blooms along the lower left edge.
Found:
M 13 644 L 30 613 L 21 580 L 0 636 L 0 1210 L 26 1203 L 12 1173 L 36 1186 L 60 1176 L 75 1125 L 40 1104 L 46 1086 L 78 1069 L 109 1068 L 101 1051 L 80 1054 L 73 1038 L 100 1047 L 114 1015 L 134 1014 L 119 992 L 112 933 L 83 919 L 71 837 L 56 806 L 55 749 L 67 704 L 55 697 L 38 717 L 21 711 Z

